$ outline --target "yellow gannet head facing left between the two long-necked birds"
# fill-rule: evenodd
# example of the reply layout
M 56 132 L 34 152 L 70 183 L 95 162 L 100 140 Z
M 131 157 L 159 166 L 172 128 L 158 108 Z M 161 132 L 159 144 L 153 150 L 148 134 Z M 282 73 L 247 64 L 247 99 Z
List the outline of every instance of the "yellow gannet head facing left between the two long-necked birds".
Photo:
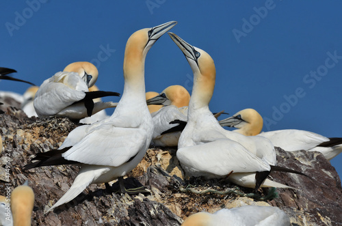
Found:
M 147 104 L 163 104 L 163 106 L 174 105 L 185 107 L 189 105 L 190 94 L 181 85 L 170 85 L 161 94 L 146 100 Z

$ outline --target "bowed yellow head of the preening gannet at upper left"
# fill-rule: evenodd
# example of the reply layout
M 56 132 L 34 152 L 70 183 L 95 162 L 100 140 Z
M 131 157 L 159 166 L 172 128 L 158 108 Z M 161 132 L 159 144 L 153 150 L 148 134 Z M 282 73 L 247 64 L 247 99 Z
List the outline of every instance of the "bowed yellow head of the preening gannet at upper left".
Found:
M 96 83 L 98 77 L 97 68 L 94 64 L 86 61 L 70 63 L 63 71 L 79 73 L 79 76 L 81 76 L 88 87 L 92 87 Z

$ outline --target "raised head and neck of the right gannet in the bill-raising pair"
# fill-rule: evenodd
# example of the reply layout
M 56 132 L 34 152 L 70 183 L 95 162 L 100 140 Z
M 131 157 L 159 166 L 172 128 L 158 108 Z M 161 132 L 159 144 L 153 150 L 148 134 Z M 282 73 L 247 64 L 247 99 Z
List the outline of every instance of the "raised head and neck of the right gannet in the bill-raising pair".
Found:
M 184 53 L 185 58 L 189 62 L 192 72 L 194 72 L 194 91 L 196 90 L 200 105 L 207 105 L 213 96 L 213 89 L 215 87 L 215 63 L 211 56 L 200 48 L 192 46 L 176 36 L 176 34 L 168 33 L 174 43 Z

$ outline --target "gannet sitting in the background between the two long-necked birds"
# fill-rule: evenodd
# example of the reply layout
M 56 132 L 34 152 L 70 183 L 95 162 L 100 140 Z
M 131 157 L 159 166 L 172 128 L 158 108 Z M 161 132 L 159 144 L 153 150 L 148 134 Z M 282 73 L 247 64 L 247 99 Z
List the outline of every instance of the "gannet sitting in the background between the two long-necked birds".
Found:
M 181 85 L 171 85 L 161 91 L 158 96 L 146 100 L 147 104 L 163 104 L 159 111 L 151 113 L 154 126 L 151 145 L 173 147 L 178 144 L 181 130 L 176 128 L 176 124 L 170 124 L 170 122 L 187 121 L 189 100 L 189 92 Z

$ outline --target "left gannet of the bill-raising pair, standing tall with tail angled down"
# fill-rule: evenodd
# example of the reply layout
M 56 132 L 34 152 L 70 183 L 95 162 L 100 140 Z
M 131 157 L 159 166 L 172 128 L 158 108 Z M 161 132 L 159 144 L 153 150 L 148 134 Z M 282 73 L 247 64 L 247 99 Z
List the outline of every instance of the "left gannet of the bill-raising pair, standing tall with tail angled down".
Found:
M 25 169 L 46 165 L 83 163 L 73 185 L 49 210 L 74 199 L 89 184 L 119 179 L 144 157 L 152 139 L 153 122 L 145 99 L 144 64 L 146 54 L 166 31 L 176 25 L 170 21 L 141 29 L 127 40 L 124 52 L 124 91 L 109 119 L 83 125 L 71 131 L 59 150 L 37 154 Z M 51 156 L 51 158 L 50 158 Z M 33 160 L 38 160 L 33 163 Z

